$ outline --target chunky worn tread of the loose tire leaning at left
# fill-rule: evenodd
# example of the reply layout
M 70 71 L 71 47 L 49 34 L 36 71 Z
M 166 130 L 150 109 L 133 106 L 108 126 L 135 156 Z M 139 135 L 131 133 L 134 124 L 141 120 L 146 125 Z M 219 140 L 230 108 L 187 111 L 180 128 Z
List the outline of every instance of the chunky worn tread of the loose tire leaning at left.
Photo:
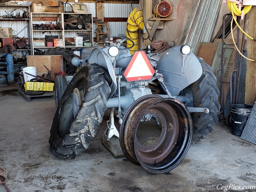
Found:
M 84 98 L 82 99 L 81 107 L 79 108 L 69 131 L 65 137 L 60 135 L 56 137 L 55 127 L 52 126 L 51 136 L 54 139 L 49 140 L 50 150 L 55 156 L 61 158 L 74 159 L 76 156 L 81 156 L 84 149 L 88 148 L 90 141 L 95 136 L 101 122 L 103 115 L 106 111 L 108 103 L 106 98 L 109 97 L 110 88 L 104 78 L 104 69 L 97 64 L 88 64 L 84 67 L 88 68 L 88 75 L 85 77 Z M 103 73 L 102 73 L 103 72 Z M 99 76 L 93 76 L 93 74 L 101 73 Z M 106 75 L 106 74 L 105 74 Z M 100 86 L 91 87 L 101 83 Z M 61 100 L 61 102 L 64 102 Z M 56 112 L 58 113 L 58 111 Z M 56 116 L 56 114 L 55 114 Z

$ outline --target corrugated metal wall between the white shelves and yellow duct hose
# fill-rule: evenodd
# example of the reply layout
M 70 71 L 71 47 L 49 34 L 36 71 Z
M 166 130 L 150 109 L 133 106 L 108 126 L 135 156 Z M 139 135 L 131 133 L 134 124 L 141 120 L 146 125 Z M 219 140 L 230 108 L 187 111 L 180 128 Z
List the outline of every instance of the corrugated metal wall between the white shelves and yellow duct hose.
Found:
M 139 4 L 132 4 L 134 7 L 139 7 Z M 115 11 L 113 11 L 115 10 Z M 104 17 L 128 17 L 131 10 L 131 4 L 104 4 Z M 118 36 L 118 34 L 126 35 L 126 22 L 109 22 L 109 35 Z

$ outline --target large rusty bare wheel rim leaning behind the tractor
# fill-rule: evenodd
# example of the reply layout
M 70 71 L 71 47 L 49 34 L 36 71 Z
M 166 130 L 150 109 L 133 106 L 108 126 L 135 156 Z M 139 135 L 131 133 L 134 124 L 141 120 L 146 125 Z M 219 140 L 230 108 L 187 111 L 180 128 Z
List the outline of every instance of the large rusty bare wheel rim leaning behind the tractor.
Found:
M 155 174 L 169 172 L 181 162 L 188 152 L 193 131 L 190 113 L 181 101 L 158 97 L 148 95 L 136 100 L 125 112 L 120 128 L 124 155 Z M 156 115 L 162 123 L 160 137 L 150 146 L 140 144 L 136 136 L 140 119 L 147 114 Z

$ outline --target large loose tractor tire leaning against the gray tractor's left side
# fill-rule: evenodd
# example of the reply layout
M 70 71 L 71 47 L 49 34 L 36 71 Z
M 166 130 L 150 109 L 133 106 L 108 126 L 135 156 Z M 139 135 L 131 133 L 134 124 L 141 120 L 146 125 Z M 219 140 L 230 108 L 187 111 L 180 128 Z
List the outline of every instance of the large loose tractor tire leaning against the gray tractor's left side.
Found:
M 72 78 L 53 118 L 50 151 L 61 158 L 81 156 L 95 136 L 107 108 L 110 94 L 106 71 L 97 64 L 86 64 Z M 73 90 L 81 93 L 82 105 L 73 116 Z

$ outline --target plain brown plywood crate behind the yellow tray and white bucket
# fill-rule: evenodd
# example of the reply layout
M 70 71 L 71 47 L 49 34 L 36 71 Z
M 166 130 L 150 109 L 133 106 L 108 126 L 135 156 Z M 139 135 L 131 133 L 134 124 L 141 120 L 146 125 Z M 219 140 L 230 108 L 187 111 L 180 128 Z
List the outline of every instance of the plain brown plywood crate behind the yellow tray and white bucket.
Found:
M 55 80 L 54 72 L 64 71 L 62 55 L 28 55 L 28 67 L 36 67 L 36 75 L 47 74 L 47 67 L 52 71 L 52 80 Z M 45 65 L 45 67 L 44 67 Z

